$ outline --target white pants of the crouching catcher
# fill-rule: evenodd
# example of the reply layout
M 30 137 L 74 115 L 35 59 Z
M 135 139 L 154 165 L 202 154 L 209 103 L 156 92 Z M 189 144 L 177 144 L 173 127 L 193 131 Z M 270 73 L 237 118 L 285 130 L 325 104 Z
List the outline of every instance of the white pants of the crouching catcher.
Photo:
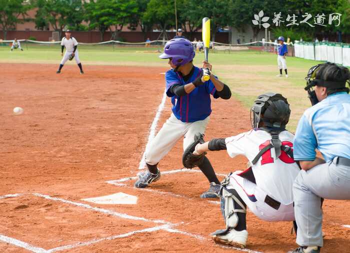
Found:
M 266 193 L 256 184 L 244 179 L 236 171 L 229 178 L 227 189 L 235 189 L 249 210 L 258 218 L 268 222 L 294 221 L 293 203 L 288 205 L 280 204 L 278 210 L 265 203 Z

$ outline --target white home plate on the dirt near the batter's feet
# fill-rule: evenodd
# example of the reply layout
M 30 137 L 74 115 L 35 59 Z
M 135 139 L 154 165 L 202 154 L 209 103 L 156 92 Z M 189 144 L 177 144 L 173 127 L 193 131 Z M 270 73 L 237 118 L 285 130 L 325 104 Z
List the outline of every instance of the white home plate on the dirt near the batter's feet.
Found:
M 128 195 L 126 193 L 115 193 L 112 195 L 101 196 L 96 198 L 82 199 L 95 204 L 106 205 L 135 205 L 137 203 L 137 197 Z

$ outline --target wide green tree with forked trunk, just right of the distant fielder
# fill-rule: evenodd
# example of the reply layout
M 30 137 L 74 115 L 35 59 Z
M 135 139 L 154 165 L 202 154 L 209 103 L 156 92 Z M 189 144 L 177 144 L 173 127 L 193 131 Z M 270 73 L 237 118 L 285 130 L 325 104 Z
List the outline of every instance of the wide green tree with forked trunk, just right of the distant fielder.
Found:
M 113 32 L 110 39 L 118 37 L 122 27 L 131 22 L 138 10 L 135 0 L 91 0 L 85 2 L 84 7 L 85 20 L 89 21 L 89 28 L 98 28 L 101 41 L 104 32 L 111 28 Z

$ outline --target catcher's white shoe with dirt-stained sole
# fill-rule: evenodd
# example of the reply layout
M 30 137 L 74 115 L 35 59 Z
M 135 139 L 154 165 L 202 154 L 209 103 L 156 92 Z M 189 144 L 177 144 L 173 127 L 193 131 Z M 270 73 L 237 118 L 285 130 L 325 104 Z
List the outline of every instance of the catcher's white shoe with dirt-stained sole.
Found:
M 217 231 L 220 233 L 220 231 Z M 226 244 L 231 245 L 237 248 L 245 248 L 246 240 L 248 238 L 248 232 L 246 230 L 236 231 L 234 229 L 230 229 L 228 232 L 223 234 L 216 234 L 216 232 L 211 234 L 212 240 L 218 244 Z

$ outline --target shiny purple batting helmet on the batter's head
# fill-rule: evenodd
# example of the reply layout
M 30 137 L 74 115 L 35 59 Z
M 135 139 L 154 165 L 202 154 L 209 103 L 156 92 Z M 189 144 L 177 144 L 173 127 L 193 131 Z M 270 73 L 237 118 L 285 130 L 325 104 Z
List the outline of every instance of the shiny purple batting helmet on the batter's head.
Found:
M 185 38 L 174 38 L 166 42 L 164 52 L 159 58 L 171 58 L 171 63 L 176 66 L 182 66 L 194 58 L 192 43 Z

